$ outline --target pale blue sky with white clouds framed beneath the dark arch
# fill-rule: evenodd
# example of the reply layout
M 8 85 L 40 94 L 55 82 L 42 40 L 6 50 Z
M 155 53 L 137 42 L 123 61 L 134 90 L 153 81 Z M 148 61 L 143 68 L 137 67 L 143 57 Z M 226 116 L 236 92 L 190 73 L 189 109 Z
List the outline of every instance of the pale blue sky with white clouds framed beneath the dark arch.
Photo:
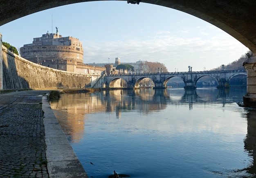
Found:
M 169 72 L 210 70 L 227 65 L 249 49 L 212 24 L 175 9 L 126 1 L 65 5 L 0 26 L 2 41 L 22 47 L 34 37 L 58 32 L 83 43 L 84 63 L 148 61 Z M 109 59 L 108 59 L 109 58 Z

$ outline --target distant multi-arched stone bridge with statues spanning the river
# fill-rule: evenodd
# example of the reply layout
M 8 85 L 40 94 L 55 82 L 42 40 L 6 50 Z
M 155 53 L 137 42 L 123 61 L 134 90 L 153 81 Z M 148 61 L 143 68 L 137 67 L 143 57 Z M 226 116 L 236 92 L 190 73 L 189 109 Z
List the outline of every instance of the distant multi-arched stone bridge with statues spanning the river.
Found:
M 142 79 L 149 78 L 155 88 L 166 88 L 166 83 L 172 77 L 179 77 L 184 81 L 184 88 L 196 88 L 197 81 L 204 76 L 213 77 L 218 83 L 217 88 L 225 88 L 225 84 L 237 75 L 247 75 L 245 70 L 218 70 L 218 71 L 200 71 L 200 72 L 173 72 L 173 73 L 145 73 L 145 74 L 124 74 L 124 75 L 106 75 L 104 84 L 106 88 L 116 88 L 115 82 L 119 79 L 126 82 L 127 88 L 139 88 L 139 82 Z

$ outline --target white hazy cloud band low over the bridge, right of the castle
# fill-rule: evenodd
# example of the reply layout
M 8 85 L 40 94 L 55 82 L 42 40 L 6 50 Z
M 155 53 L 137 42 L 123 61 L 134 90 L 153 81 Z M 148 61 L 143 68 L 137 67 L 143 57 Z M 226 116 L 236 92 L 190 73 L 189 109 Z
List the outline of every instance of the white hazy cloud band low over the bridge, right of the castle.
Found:
M 195 65 L 193 67 L 194 71 L 203 69 L 202 65 L 207 66 L 208 70 L 220 66 L 219 60 L 222 62 L 226 60 L 226 64 L 228 64 L 236 60 L 234 55 L 231 55 L 234 49 L 241 48 L 240 42 L 230 38 L 228 35 L 215 36 L 210 39 L 160 35 L 149 37 L 147 40 L 130 39 L 97 44 L 87 43 L 86 46 L 86 48 L 84 46 L 85 63 L 89 63 L 88 61 L 94 61 L 95 63 L 98 61 L 107 62 L 104 60 L 108 59 L 108 55 L 117 57 L 118 54 L 121 62 L 136 62 L 138 60 L 161 62 L 166 65 L 169 71 L 172 71 L 171 69 L 174 69 L 175 66 L 180 68 L 179 71 L 186 71 L 187 65 L 190 65 L 188 61 Z M 227 51 L 227 49 L 230 49 L 230 51 Z M 216 55 L 213 56 L 212 54 Z M 113 57 L 113 60 L 115 57 Z M 212 57 L 216 60 L 213 61 Z M 184 59 L 186 59 L 186 62 Z M 201 67 L 198 68 L 197 66 L 199 65 Z

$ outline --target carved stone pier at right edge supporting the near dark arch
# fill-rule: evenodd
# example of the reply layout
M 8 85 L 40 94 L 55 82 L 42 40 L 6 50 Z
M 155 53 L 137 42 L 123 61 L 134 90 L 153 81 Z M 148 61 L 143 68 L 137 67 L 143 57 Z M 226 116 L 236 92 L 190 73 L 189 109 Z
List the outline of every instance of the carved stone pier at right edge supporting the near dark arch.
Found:
M 248 57 L 243 63 L 247 73 L 247 93 L 243 96 L 245 107 L 256 107 L 256 57 Z

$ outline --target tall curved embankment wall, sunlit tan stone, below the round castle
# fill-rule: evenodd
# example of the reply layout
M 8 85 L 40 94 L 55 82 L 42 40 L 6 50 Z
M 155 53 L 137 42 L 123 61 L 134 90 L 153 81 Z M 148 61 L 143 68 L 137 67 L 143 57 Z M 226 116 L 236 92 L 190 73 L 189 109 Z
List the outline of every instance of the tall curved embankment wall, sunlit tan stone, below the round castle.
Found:
M 91 77 L 95 77 L 95 75 L 71 73 L 35 64 L 13 54 L 5 46 L 2 46 L 1 52 L 2 90 L 83 88 L 90 86 Z

